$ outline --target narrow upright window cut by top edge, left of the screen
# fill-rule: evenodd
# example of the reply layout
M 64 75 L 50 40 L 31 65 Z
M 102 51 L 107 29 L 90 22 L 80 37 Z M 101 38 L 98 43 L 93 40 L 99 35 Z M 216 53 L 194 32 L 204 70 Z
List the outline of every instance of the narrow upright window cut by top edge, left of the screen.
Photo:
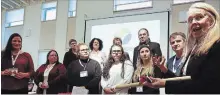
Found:
M 76 16 L 76 0 L 69 0 L 68 17 Z

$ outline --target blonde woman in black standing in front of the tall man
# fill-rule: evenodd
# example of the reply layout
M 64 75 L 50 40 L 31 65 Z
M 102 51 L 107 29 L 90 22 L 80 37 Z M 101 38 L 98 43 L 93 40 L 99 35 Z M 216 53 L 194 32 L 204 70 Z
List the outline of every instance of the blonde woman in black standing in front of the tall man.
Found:
M 141 45 L 138 50 L 137 69 L 133 75 L 133 82 L 139 82 L 141 76 L 162 77 L 162 72 L 153 65 L 152 52 L 147 45 Z M 131 89 L 132 94 L 159 94 L 159 89 L 139 86 Z

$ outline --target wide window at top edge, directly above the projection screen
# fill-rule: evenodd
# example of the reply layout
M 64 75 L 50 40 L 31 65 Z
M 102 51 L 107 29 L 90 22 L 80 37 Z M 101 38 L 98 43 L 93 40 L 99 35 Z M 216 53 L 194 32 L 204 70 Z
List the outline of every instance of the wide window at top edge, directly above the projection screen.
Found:
M 114 11 L 152 7 L 152 0 L 114 0 Z

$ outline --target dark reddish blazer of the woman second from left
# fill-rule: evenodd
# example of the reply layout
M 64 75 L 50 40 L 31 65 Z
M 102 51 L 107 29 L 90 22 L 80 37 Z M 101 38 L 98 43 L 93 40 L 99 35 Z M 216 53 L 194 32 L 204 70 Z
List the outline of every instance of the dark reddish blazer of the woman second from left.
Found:
M 37 94 L 43 93 L 43 89 L 39 87 L 39 83 L 43 82 L 44 80 L 43 75 L 46 68 L 47 64 L 43 64 L 37 69 L 35 73 L 34 82 L 38 86 Z M 56 63 L 48 76 L 49 88 L 47 89 L 47 94 L 58 94 L 66 91 L 65 74 L 66 68 L 64 65 L 61 63 Z

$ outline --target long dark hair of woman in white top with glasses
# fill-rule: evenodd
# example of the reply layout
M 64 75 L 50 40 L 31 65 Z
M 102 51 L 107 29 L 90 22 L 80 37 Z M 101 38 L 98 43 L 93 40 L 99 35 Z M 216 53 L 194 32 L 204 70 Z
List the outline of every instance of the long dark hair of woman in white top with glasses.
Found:
M 114 62 L 115 62 L 114 59 L 113 59 L 113 57 L 112 57 L 112 55 L 111 55 L 111 54 L 112 54 L 112 48 L 113 48 L 114 46 L 120 47 L 120 48 L 121 48 L 121 51 L 122 51 L 121 58 L 120 58 L 120 62 L 122 63 L 121 77 L 124 78 L 124 63 L 125 63 L 125 60 L 126 60 L 126 58 L 125 58 L 125 56 L 124 56 L 124 49 L 123 49 L 123 47 L 120 46 L 120 45 L 112 45 L 111 48 L 110 48 L 108 60 L 107 60 L 107 62 L 105 63 L 105 66 L 104 66 L 104 68 L 103 68 L 103 77 L 104 77 L 105 79 L 109 79 L 109 78 L 110 78 L 109 70 L 110 70 L 110 68 L 112 67 L 112 64 L 114 64 Z

